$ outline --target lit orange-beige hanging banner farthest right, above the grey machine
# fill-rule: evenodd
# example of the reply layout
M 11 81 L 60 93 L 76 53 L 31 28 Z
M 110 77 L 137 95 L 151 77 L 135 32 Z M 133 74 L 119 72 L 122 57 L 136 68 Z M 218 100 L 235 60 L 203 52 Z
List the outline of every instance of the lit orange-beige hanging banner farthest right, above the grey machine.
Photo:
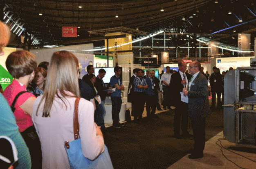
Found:
M 251 34 L 238 33 L 238 38 L 237 38 L 238 53 L 242 53 L 241 51 L 250 50 L 251 49 L 250 43 L 251 43 Z

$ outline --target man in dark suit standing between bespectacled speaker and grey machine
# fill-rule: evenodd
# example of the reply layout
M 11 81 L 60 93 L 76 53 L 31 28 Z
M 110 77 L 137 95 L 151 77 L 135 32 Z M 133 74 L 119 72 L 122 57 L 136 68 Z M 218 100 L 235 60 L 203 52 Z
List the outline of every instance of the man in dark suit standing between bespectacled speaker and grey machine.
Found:
M 213 67 L 213 72 L 210 76 L 210 85 L 211 85 L 211 109 L 215 108 L 216 105 L 216 94 L 217 94 L 217 108 L 221 108 L 221 83 L 222 78 L 220 72 L 218 71 L 217 67 Z

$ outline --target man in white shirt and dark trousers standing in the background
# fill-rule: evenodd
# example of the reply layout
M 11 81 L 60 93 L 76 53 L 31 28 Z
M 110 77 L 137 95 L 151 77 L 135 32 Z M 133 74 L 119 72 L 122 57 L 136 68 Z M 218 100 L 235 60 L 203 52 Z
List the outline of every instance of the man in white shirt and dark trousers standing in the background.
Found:
M 163 82 L 163 107 L 164 110 L 166 110 L 166 107 L 168 109 L 171 109 L 171 92 L 170 92 L 170 80 L 171 80 L 171 73 L 170 73 L 170 67 L 166 67 L 166 73 L 162 75 L 161 82 Z

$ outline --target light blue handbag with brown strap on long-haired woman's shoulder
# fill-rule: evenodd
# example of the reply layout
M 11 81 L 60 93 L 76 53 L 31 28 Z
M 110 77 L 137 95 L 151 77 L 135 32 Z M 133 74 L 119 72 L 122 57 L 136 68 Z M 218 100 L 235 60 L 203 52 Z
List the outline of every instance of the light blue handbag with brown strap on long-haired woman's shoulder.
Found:
M 64 147 L 70 162 L 71 169 L 113 169 L 113 165 L 108 153 L 108 148 L 104 145 L 104 152 L 95 160 L 90 160 L 83 156 L 81 139 L 79 138 L 78 104 L 80 98 L 76 98 L 74 109 L 74 141 L 65 141 Z

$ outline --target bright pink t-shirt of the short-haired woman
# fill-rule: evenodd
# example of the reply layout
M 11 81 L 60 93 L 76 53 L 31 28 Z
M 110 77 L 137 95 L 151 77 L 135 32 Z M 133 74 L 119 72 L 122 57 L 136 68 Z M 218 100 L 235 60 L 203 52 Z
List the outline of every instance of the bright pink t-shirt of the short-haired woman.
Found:
M 4 90 L 3 96 L 9 103 L 10 107 L 15 96 L 20 91 L 26 91 L 26 86 L 20 85 L 20 83 L 17 80 L 13 80 L 12 83 L 9 86 L 7 86 L 7 88 Z M 24 131 L 25 129 L 33 125 L 31 116 L 25 113 L 20 108 L 20 105 L 22 105 L 31 96 L 36 98 L 36 96 L 34 96 L 32 93 L 23 93 L 22 95 L 20 95 L 20 97 L 16 101 L 16 104 L 14 105 L 16 109 L 13 114 L 16 118 L 16 123 L 19 127 L 20 132 Z

